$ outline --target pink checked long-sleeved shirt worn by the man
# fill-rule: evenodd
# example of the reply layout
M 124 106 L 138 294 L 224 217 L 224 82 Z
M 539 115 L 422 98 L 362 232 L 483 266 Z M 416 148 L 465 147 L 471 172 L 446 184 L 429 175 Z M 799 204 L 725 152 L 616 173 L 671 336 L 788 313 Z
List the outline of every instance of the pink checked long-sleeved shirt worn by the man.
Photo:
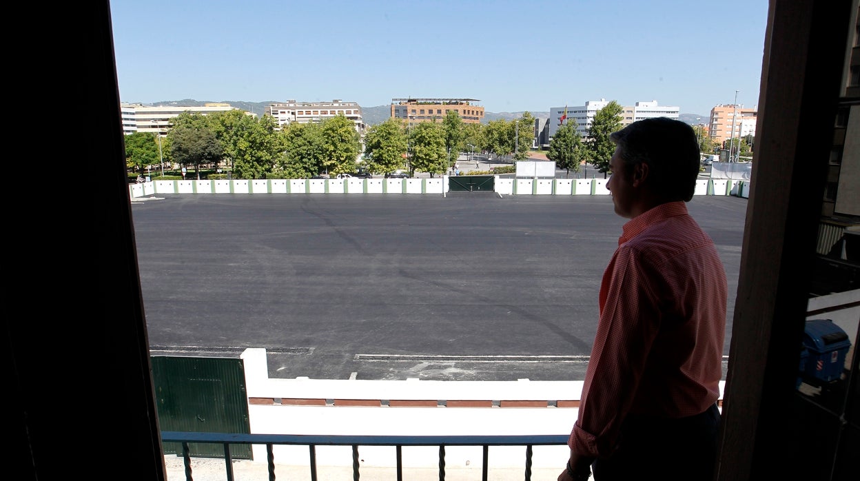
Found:
M 611 454 L 624 416 L 694 416 L 719 398 L 728 299 L 710 237 L 684 202 L 624 225 L 600 285 L 574 453 Z

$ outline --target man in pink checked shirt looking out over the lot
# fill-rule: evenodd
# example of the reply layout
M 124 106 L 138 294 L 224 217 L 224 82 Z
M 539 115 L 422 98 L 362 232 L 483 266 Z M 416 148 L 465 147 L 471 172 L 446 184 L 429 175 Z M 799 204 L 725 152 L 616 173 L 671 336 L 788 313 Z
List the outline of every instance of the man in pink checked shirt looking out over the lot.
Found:
M 699 171 L 692 127 L 633 122 L 606 188 L 622 227 L 558 481 L 710 481 L 728 287 L 716 247 L 687 212 Z M 671 145 L 671 148 L 667 148 Z

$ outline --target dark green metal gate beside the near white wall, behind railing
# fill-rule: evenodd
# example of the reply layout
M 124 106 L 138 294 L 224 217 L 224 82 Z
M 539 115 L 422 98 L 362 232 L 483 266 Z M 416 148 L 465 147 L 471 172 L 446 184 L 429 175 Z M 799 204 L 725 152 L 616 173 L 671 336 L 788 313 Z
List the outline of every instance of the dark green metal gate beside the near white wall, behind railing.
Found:
M 245 367 L 241 359 L 152 356 L 158 422 L 163 431 L 250 434 Z M 164 442 L 164 453 L 182 453 Z M 189 443 L 192 456 L 224 458 L 224 447 Z M 231 444 L 234 459 L 252 459 L 248 444 Z

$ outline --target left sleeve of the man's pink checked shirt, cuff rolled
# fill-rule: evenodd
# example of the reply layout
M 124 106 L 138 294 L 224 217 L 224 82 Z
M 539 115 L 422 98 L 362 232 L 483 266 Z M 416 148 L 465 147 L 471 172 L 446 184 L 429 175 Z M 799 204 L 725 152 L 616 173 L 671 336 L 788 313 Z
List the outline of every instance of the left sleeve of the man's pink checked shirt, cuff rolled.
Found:
M 619 246 L 601 282 L 597 334 L 579 416 L 568 439 L 575 453 L 612 453 L 659 327 L 659 310 L 636 252 Z

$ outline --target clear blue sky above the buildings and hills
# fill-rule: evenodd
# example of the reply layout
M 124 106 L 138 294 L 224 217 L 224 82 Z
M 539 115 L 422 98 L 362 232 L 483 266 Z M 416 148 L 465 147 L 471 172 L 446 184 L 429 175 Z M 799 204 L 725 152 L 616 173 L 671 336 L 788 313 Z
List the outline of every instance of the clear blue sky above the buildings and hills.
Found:
M 122 102 L 759 104 L 765 0 L 113 0 Z

